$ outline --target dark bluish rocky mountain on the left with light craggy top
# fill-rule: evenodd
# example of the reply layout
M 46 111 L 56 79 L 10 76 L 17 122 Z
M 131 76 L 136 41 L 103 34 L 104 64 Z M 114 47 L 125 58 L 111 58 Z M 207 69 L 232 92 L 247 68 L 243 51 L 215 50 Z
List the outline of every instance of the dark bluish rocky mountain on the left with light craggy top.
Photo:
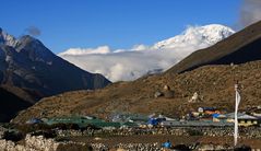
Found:
M 95 90 L 110 82 L 52 54 L 38 39 L 15 39 L 0 30 L 0 84 L 29 92 L 35 101 L 67 91 Z M 31 94 L 31 93 L 29 93 Z

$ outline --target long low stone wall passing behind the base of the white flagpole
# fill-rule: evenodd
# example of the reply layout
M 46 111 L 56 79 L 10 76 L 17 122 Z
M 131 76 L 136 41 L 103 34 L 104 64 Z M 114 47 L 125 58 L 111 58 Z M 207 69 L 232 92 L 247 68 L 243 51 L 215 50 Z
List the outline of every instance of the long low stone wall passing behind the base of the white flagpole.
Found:
M 133 135 L 173 135 L 173 136 L 211 136 L 224 137 L 233 136 L 233 127 L 176 127 L 176 128 L 129 128 L 129 129 L 114 129 L 114 130 L 58 130 L 57 135 L 60 137 L 75 137 L 86 136 L 93 137 L 95 135 L 109 133 L 110 136 L 133 136 Z M 240 137 L 242 138 L 261 138 L 261 128 L 248 127 L 239 128 Z

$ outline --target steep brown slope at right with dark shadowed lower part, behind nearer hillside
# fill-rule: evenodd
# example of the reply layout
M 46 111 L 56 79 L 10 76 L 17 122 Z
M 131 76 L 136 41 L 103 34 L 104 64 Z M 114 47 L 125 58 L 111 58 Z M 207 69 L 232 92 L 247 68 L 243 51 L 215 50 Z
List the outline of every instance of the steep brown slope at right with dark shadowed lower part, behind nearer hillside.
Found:
M 214 46 L 198 50 L 174 66 L 168 72 L 180 73 L 205 65 L 238 65 L 260 60 L 261 22 L 232 35 Z

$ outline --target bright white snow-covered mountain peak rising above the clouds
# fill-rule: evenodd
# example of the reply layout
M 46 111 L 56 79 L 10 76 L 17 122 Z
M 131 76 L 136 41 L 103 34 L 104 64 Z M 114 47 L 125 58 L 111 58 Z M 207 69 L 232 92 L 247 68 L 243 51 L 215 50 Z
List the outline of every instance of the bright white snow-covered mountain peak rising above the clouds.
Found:
M 182 34 L 158 42 L 153 46 L 153 49 L 170 49 L 177 46 L 188 46 L 202 44 L 205 46 L 214 45 L 217 42 L 234 34 L 230 27 L 211 24 L 205 26 L 190 26 Z

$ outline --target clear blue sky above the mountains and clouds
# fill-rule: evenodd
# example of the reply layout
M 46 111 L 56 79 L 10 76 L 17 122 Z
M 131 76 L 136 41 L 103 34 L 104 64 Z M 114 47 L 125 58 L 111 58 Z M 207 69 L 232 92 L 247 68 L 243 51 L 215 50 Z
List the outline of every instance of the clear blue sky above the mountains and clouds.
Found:
M 36 26 L 54 53 L 108 45 L 152 45 L 187 25 L 234 27 L 241 0 L 3 0 L 0 27 L 14 36 Z

